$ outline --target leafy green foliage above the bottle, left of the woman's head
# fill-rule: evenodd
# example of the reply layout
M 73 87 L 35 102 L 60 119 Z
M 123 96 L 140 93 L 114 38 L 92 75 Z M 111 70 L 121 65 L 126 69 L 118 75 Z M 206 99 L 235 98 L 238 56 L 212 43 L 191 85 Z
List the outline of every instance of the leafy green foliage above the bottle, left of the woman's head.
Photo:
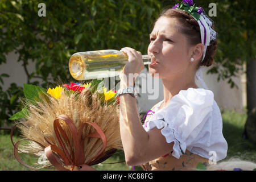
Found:
M 15 51 L 27 84 L 43 88 L 60 80 L 73 81 L 68 61 L 75 52 L 122 47 L 146 52 L 152 20 L 161 7 L 154 0 L 46 0 L 46 17 L 39 17 L 36 0 L 0 2 L 0 65 L 7 62 L 7 53 Z M 35 72 L 28 72 L 28 60 L 35 63 Z M 7 76 L 0 75 L 0 125 L 19 109 L 23 96 L 16 84 L 2 89 L 2 77 Z M 33 78 L 41 78 L 42 84 Z

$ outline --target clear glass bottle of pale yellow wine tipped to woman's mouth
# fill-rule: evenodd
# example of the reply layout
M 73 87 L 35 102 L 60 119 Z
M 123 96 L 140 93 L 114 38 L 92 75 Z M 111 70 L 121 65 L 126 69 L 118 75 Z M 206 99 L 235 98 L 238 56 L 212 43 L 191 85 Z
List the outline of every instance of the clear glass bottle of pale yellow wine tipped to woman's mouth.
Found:
M 144 64 L 151 63 L 150 55 L 142 59 Z M 113 49 L 77 52 L 69 59 L 69 72 L 76 80 L 118 76 L 127 61 L 127 55 Z

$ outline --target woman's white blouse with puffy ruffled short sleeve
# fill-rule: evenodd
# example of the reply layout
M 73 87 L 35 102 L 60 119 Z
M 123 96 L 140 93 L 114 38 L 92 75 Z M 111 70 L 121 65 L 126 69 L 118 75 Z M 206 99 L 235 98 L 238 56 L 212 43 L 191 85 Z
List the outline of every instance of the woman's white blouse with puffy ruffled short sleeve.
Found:
M 155 113 L 143 127 L 146 131 L 154 127 L 161 129 L 166 142 L 174 142 L 172 155 L 175 158 L 179 159 L 185 150 L 212 161 L 226 157 L 228 143 L 222 134 L 221 113 L 212 91 L 180 90 L 159 110 L 162 103 L 156 105 Z

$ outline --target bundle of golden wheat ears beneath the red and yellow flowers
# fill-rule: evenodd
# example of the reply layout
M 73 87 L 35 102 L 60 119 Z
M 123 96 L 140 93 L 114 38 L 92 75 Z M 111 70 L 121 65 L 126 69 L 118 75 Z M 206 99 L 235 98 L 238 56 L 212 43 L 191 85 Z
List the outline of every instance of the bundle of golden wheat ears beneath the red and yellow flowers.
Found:
M 64 122 L 65 119 L 59 119 L 58 121 L 63 132 L 61 133 L 61 129 L 57 130 L 60 131 L 59 138 L 63 140 L 62 146 L 60 139 L 58 139 L 56 135 L 56 128 L 54 126 L 56 123 L 54 124 L 54 122 L 56 122 L 55 120 L 59 115 L 65 115 L 72 121 L 76 128 L 76 134 L 79 133 L 81 127 L 84 125 L 79 138 L 80 143 L 82 142 L 82 155 L 84 155 L 82 156 L 82 163 L 92 166 L 106 160 L 115 150 L 122 149 L 119 133 L 119 105 L 117 101 L 112 102 L 112 104 L 101 102 L 102 98 L 100 98 L 100 95 L 97 92 L 91 92 L 88 88 L 81 92 L 68 94 L 67 92 L 65 93 L 65 91 L 67 90 L 61 90 L 61 97 L 58 99 L 43 93 L 40 94 L 40 101 L 24 101 L 27 109 L 27 112 L 24 113 L 24 115 L 26 115 L 26 122 L 17 123 L 17 127 L 22 134 L 21 137 L 27 139 L 28 142 L 24 144 L 17 142 L 14 144 L 14 149 L 16 149 L 16 153 L 18 151 L 29 154 L 32 153 L 45 159 L 44 164 L 37 163 L 37 167 L 33 169 L 52 165 L 52 163 L 47 160 L 48 158 L 44 152 L 49 145 L 59 147 L 64 153 L 66 148 L 67 153 L 70 154 L 69 158 L 71 158 L 73 162 L 75 160 L 73 159 L 74 156 L 72 156 L 72 153 L 75 155 L 76 141 L 74 134 L 71 132 L 71 128 L 67 125 L 67 122 Z M 99 126 L 106 138 L 106 146 L 103 154 L 93 160 L 93 156 L 102 150 L 104 142 L 102 142 L 101 138 L 93 135 L 93 133 L 97 133 L 95 127 L 84 124 L 88 122 L 95 123 Z M 94 137 L 86 137 L 90 134 Z M 67 136 L 66 138 L 65 135 Z M 56 150 L 53 150 L 53 153 L 62 166 L 68 166 L 65 160 L 61 158 L 60 152 L 58 154 Z M 67 155 L 67 153 L 65 154 Z M 18 155 L 16 155 L 16 158 L 24 165 Z M 80 158 L 77 160 L 81 160 L 80 156 L 75 156 L 75 158 Z M 77 163 L 73 162 L 69 164 L 73 167 L 74 165 L 78 166 Z

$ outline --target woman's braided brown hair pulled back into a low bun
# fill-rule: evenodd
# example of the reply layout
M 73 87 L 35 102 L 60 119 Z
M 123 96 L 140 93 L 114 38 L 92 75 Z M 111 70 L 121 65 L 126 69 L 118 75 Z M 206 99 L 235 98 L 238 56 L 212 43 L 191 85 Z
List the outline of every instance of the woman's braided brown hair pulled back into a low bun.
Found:
M 177 18 L 181 24 L 181 32 L 188 38 L 191 45 L 201 43 L 200 27 L 196 19 L 192 15 L 183 10 L 177 9 L 164 9 L 160 13 L 160 17 L 165 16 L 167 18 Z M 159 18 L 160 18 L 159 17 Z M 212 27 L 214 30 L 214 27 Z M 213 56 L 217 50 L 217 40 L 211 40 L 210 46 L 207 47 L 204 61 L 200 65 L 209 67 L 213 63 Z

